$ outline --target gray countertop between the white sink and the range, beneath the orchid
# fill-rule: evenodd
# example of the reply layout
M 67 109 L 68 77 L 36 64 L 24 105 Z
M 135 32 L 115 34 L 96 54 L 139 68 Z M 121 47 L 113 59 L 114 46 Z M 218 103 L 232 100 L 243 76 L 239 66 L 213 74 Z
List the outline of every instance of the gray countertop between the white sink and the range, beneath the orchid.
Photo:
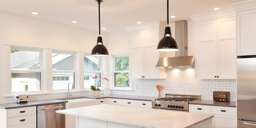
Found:
M 84 96 L 84 98 L 89 99 L 103 99 L 103 98 L 115 98 L 115 99 L 126 99 L 126 100 L 143 100 L 151 101 L 157 99 L 157 97 L 147 97 L 147 96 L 132 96 L 132 95 L 100 95 L 100 96 Z

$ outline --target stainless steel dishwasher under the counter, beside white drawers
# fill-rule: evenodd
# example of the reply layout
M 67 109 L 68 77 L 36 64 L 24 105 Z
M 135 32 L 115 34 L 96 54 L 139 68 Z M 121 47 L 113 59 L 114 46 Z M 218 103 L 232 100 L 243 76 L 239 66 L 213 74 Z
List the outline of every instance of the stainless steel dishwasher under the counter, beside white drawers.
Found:
M 65 128 L 65 115 L 56 113 L 66 109 L 66 104 L 37 106 L 37 128 Z

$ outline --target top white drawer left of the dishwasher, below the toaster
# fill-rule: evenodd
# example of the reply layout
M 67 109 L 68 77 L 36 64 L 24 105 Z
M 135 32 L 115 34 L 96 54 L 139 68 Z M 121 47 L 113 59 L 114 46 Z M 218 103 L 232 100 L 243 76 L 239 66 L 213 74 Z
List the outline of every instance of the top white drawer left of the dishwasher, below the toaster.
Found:
M 36 106 L 25 108 L 14 108 L 7 110 L 8 118 L 36 114 Z

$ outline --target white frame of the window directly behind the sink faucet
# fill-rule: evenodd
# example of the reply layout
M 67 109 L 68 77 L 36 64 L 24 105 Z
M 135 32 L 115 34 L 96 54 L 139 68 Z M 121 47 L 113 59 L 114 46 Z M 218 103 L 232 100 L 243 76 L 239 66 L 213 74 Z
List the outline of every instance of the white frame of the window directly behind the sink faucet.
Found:
M 70 91 L 78 91 L 79 90 L 79 84 L 78 84 L 78 74 L 77 74 L 77 65 L 76 65 L 76 52 L 64 52 L 64 51 L 57 51 L 57 50 L 52 50 L 52 53 L 56 53 L 56 54 L 69 54 L 69 55 L 73 55 L 73 71 L 54 71 L 52 70 L 52 77 L 53 77 L 53 73 L 74 73 L 74 86 L 75 89 L 72 89 Z M 52 59 L 52 58 L 51 58 Z M 52 81 L 52 92 L 64 92 L 67 91 L 68 89 L 58 89 L 58 90 L 53 90 L 53 81 Z M 72 85 L 70 85 L 72 86 Z M 67 84 L 68 87 L 68 84 Z

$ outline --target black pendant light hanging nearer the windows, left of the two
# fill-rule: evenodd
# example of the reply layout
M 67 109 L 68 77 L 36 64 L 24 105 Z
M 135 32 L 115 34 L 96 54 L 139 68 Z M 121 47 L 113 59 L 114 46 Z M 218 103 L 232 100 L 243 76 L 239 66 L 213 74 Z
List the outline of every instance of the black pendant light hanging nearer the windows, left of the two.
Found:
M 96 0 L 99 4 L 99 35 L 100 35 L 100 3 L 102 0 Z M 109 56 L 108 49 L 103 45 L 102 37 L 98 36 L 97 44 L 92 49 L 92 56 Z

